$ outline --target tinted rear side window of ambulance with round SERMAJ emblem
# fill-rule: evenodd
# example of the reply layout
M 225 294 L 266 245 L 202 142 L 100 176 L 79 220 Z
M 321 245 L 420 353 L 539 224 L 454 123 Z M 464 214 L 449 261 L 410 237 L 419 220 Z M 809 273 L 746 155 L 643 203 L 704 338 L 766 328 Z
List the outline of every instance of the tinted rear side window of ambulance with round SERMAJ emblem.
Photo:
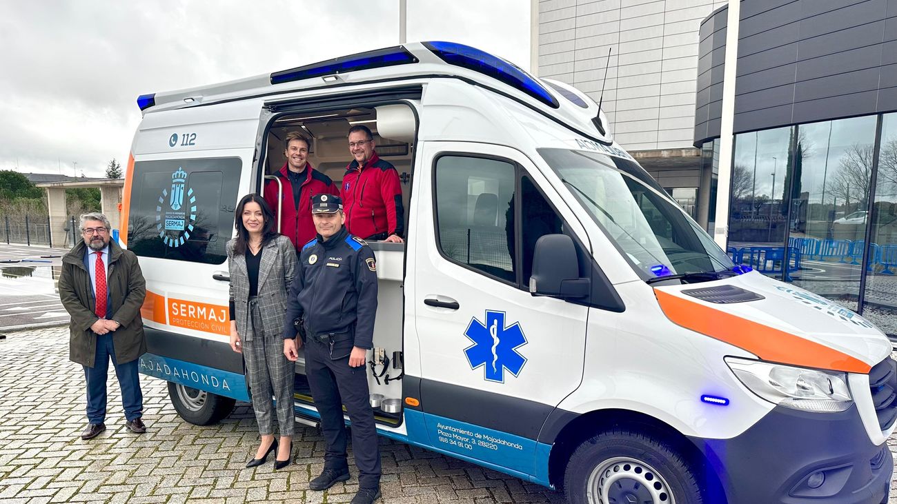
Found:
M 136 162 L 127 247 L 137 256 L 222 264 L 241 167 L 238 158 Z

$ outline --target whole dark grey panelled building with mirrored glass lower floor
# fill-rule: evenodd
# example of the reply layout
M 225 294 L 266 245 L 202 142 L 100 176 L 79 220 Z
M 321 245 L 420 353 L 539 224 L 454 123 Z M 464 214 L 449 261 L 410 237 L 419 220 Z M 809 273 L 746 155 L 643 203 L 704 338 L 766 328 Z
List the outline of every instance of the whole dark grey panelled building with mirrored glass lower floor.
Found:
M 727 7 L 711 13 L 694 144 L 715 167 L 723 111 L 733 114 L 727 253 L 736 263 L 834 300 L 897 342 L 894 7 L 742 2 L 736 48 Z M 724 103 L 732 64 L 735 96 Z

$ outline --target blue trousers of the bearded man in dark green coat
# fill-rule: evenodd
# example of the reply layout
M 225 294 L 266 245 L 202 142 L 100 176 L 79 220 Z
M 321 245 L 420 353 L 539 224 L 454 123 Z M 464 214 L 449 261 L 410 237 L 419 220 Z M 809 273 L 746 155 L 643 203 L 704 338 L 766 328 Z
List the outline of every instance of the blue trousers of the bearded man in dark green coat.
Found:
M 97 338 L 97 350 L 93 367 L 84 366 L 84 378 L 87 378 L 87 421 L 103 423 L 106 421 L 106 379 L 109 377 L 109 358 L 115 366 L 118 387 L 121 387 L 121 405 L 125 410 L 125 418 L 132 421 L 140 418 L 144 412 L 144 394 L 140 391 L 140 373 L 137 372 L 137 359 L 119 364 L 115 359 L 115 346 L 112 340 L 115 333 L 94 335 Z

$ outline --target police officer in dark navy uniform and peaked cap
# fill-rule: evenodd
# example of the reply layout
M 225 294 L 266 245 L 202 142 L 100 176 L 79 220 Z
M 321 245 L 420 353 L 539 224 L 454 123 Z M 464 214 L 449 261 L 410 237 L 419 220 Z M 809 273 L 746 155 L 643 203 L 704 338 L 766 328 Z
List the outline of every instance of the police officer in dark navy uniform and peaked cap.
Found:
M 309 488 L 321 491 L 349 479 L 345 405 L 360 473 L 352 502 L 370 503 L 380 496 L 380 455 L 364 366 L 377 313 L 377 265 L 367 243 L 344 228 L 339 196 L 314 196 L 311 213 L 318 236 L 300 251 L 283 331 L 287 359 L 298 358 L 297 329 L 306 343 L 305 374 L 327 440 L 324 471 Z M 298 327 L 293 326 L 297 319 L 302 320 Z

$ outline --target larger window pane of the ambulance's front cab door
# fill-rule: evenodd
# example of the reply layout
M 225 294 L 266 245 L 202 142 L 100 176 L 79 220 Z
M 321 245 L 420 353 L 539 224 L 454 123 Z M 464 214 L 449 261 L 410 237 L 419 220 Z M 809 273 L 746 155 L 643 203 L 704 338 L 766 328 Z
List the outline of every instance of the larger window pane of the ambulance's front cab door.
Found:
M 449 260 L 517 282 L 513 214 L 516 168 L 507 161 L 460 155 L 436 161 L 438 245 Z

